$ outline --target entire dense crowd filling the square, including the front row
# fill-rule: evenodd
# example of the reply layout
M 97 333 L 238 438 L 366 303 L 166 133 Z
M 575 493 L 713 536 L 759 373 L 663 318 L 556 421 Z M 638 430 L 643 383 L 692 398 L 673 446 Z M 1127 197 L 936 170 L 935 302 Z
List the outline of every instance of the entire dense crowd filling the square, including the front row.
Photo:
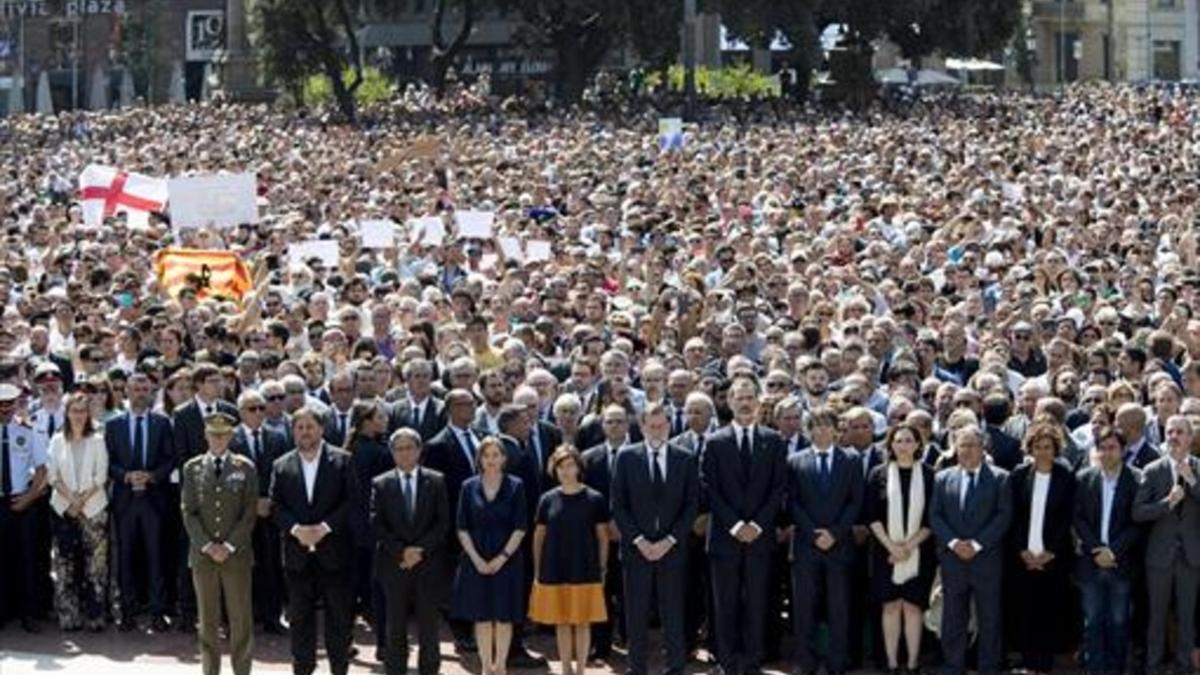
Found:
M 0 121 L 6 641 L 194 631 L 215 674 L 224 622 L 239 675 L 259 631 L 308 675 L 320 625 L 344 674 L 364 620 L 389 674 L 438 673 L 444 629 L 545 669 L 544 627 L 571 675 L 1196 669 L 1200 98 L 726 103 L 667 148 L 676 112 Z M 253 171 L 260 219 L 85 225 L 89 163 Z M 252 287 L 167 293 L 168 247 Z

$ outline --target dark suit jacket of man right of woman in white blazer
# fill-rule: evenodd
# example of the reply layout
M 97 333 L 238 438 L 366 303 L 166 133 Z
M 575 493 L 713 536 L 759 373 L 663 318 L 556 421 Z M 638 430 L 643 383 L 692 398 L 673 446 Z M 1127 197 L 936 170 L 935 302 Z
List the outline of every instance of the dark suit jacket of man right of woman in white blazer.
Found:
M 104 444 L 108 447 L 108 477 L 113 483 L 113 508 L 122 508 L 133 496 L 133 488 L 125 482 L 125 474 L 138 465 L 133 456 L 133 436 L 130 432 L 130 411 L 109 419 L 104 424 Z M 166 506 L 166 488 L 170 473 L 178 465 L 175 440 L 170 419 L 164 414 L 146 412 L 145 471 L 154 474 L 146 485 L 145 496 L 157 506 Z

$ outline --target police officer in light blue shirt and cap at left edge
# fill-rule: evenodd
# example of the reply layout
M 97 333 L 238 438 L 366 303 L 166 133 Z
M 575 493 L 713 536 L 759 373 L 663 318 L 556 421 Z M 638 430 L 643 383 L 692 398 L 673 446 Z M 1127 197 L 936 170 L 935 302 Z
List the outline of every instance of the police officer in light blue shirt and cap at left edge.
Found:
M 40 629 L 37 614 L 37 519 L 35 504 L 46 490 L 44 443 L 13 419 L 20 389 L 0 384 L 0 607 L 14 609 L 28 633 Z M 10 604 L 11 603 L 11 604 Z M 11 619 L 0 614 L 0 621 Z

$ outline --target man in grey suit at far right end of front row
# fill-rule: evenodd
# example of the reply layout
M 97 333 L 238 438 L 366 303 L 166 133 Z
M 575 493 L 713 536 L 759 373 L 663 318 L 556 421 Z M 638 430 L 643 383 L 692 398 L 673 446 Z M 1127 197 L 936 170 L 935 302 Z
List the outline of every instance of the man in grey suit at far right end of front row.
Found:
M 1176 414 L 1166 420 L 1166 454 L 1146 467 L 1134 500 L 1133 518 L 1146 532 L 1146 670 L 1159 673 L 1166 652 L 1166 621 L 1175 591 L 1175 662 L 1192 671 L 1196 590 L 1200 587 L 1200 460 L 1190 455 L 1192 423 Z

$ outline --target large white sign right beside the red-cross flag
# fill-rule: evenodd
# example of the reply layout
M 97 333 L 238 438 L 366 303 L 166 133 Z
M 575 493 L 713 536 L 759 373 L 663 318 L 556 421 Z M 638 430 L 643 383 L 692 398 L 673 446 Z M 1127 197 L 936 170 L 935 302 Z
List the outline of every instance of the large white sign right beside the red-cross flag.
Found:
M 194 175 L 167 183 L 175 227 L 236 227 L 258 222 L 258 180 L 253 173 Z

